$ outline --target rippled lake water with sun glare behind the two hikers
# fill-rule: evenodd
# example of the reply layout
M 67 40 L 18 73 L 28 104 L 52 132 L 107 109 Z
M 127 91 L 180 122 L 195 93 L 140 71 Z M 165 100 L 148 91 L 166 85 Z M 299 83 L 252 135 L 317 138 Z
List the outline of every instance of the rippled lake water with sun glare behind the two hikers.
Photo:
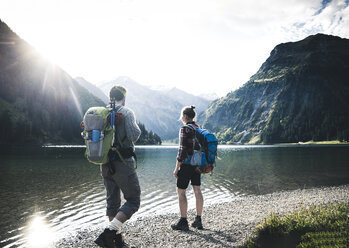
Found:
M 3 147 L 0 158 L 0 247 L 47 247 L 68 233 L 103 225 L 105 190 L 83 147 Z M 140 146 L 141 208 L 132 217 L 178 212 L 177 147 Z M 349 146 L 220 146 L 204 175 L 205 204 L 251 194 L 349 183 Z M 194 208 L 192 190 L 189 208 Z

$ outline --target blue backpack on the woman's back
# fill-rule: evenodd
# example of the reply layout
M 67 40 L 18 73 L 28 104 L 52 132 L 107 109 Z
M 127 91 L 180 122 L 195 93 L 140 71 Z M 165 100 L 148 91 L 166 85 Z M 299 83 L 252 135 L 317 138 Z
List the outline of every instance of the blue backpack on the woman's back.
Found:
M 186 126 L 195 131 L 195 138 L 200 145 L 200 150 L 194 150 L 190 164 L 199 166 L 202 173 L 211 172 L 216 165 L 218 146 L 216 136 L 206 129 L 196 128 L 191 124 Z

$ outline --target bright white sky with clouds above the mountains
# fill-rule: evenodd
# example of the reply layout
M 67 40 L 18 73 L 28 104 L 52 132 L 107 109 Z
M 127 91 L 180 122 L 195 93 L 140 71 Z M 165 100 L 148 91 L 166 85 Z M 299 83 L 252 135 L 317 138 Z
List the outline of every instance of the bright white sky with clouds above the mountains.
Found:
M 0 0 L 0 19 L 73 77 L 194 95 L 241 87 L 280 43 L 349 38 L 349 0 Z

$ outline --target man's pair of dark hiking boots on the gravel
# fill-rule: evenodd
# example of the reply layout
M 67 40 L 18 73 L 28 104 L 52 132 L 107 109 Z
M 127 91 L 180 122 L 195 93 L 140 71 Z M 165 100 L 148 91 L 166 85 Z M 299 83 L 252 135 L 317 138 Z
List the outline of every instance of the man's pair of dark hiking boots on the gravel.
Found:
M 129 247 L 121 235 L 121 233 L 116 234 L 116 231 L 110 230 L 108 228 L 104 229 L 95 243 L 103 248 L 127 248 Z

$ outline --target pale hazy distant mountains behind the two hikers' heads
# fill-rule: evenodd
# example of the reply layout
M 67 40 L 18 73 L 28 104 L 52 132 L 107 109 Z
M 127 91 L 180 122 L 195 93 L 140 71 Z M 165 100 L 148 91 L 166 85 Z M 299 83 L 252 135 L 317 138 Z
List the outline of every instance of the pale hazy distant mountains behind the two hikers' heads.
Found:
M 178 130 L 181 126 L 179 116 L 184 106 L 195 105 L 199 113 L 209 105 L 208 100 L 190 95 L 179 89 L 152 90 L 128 77 L 119 77 L 110 82 L 104 82 L 98 87 L 104 94 L 109 95 L 109 91 L 114 85 L 122 85 L 127 88 L 126 106 L 135 112 L 137 120 L 141 121 L 147 129 L 157 133 L 162 139 L 178 137 Z

